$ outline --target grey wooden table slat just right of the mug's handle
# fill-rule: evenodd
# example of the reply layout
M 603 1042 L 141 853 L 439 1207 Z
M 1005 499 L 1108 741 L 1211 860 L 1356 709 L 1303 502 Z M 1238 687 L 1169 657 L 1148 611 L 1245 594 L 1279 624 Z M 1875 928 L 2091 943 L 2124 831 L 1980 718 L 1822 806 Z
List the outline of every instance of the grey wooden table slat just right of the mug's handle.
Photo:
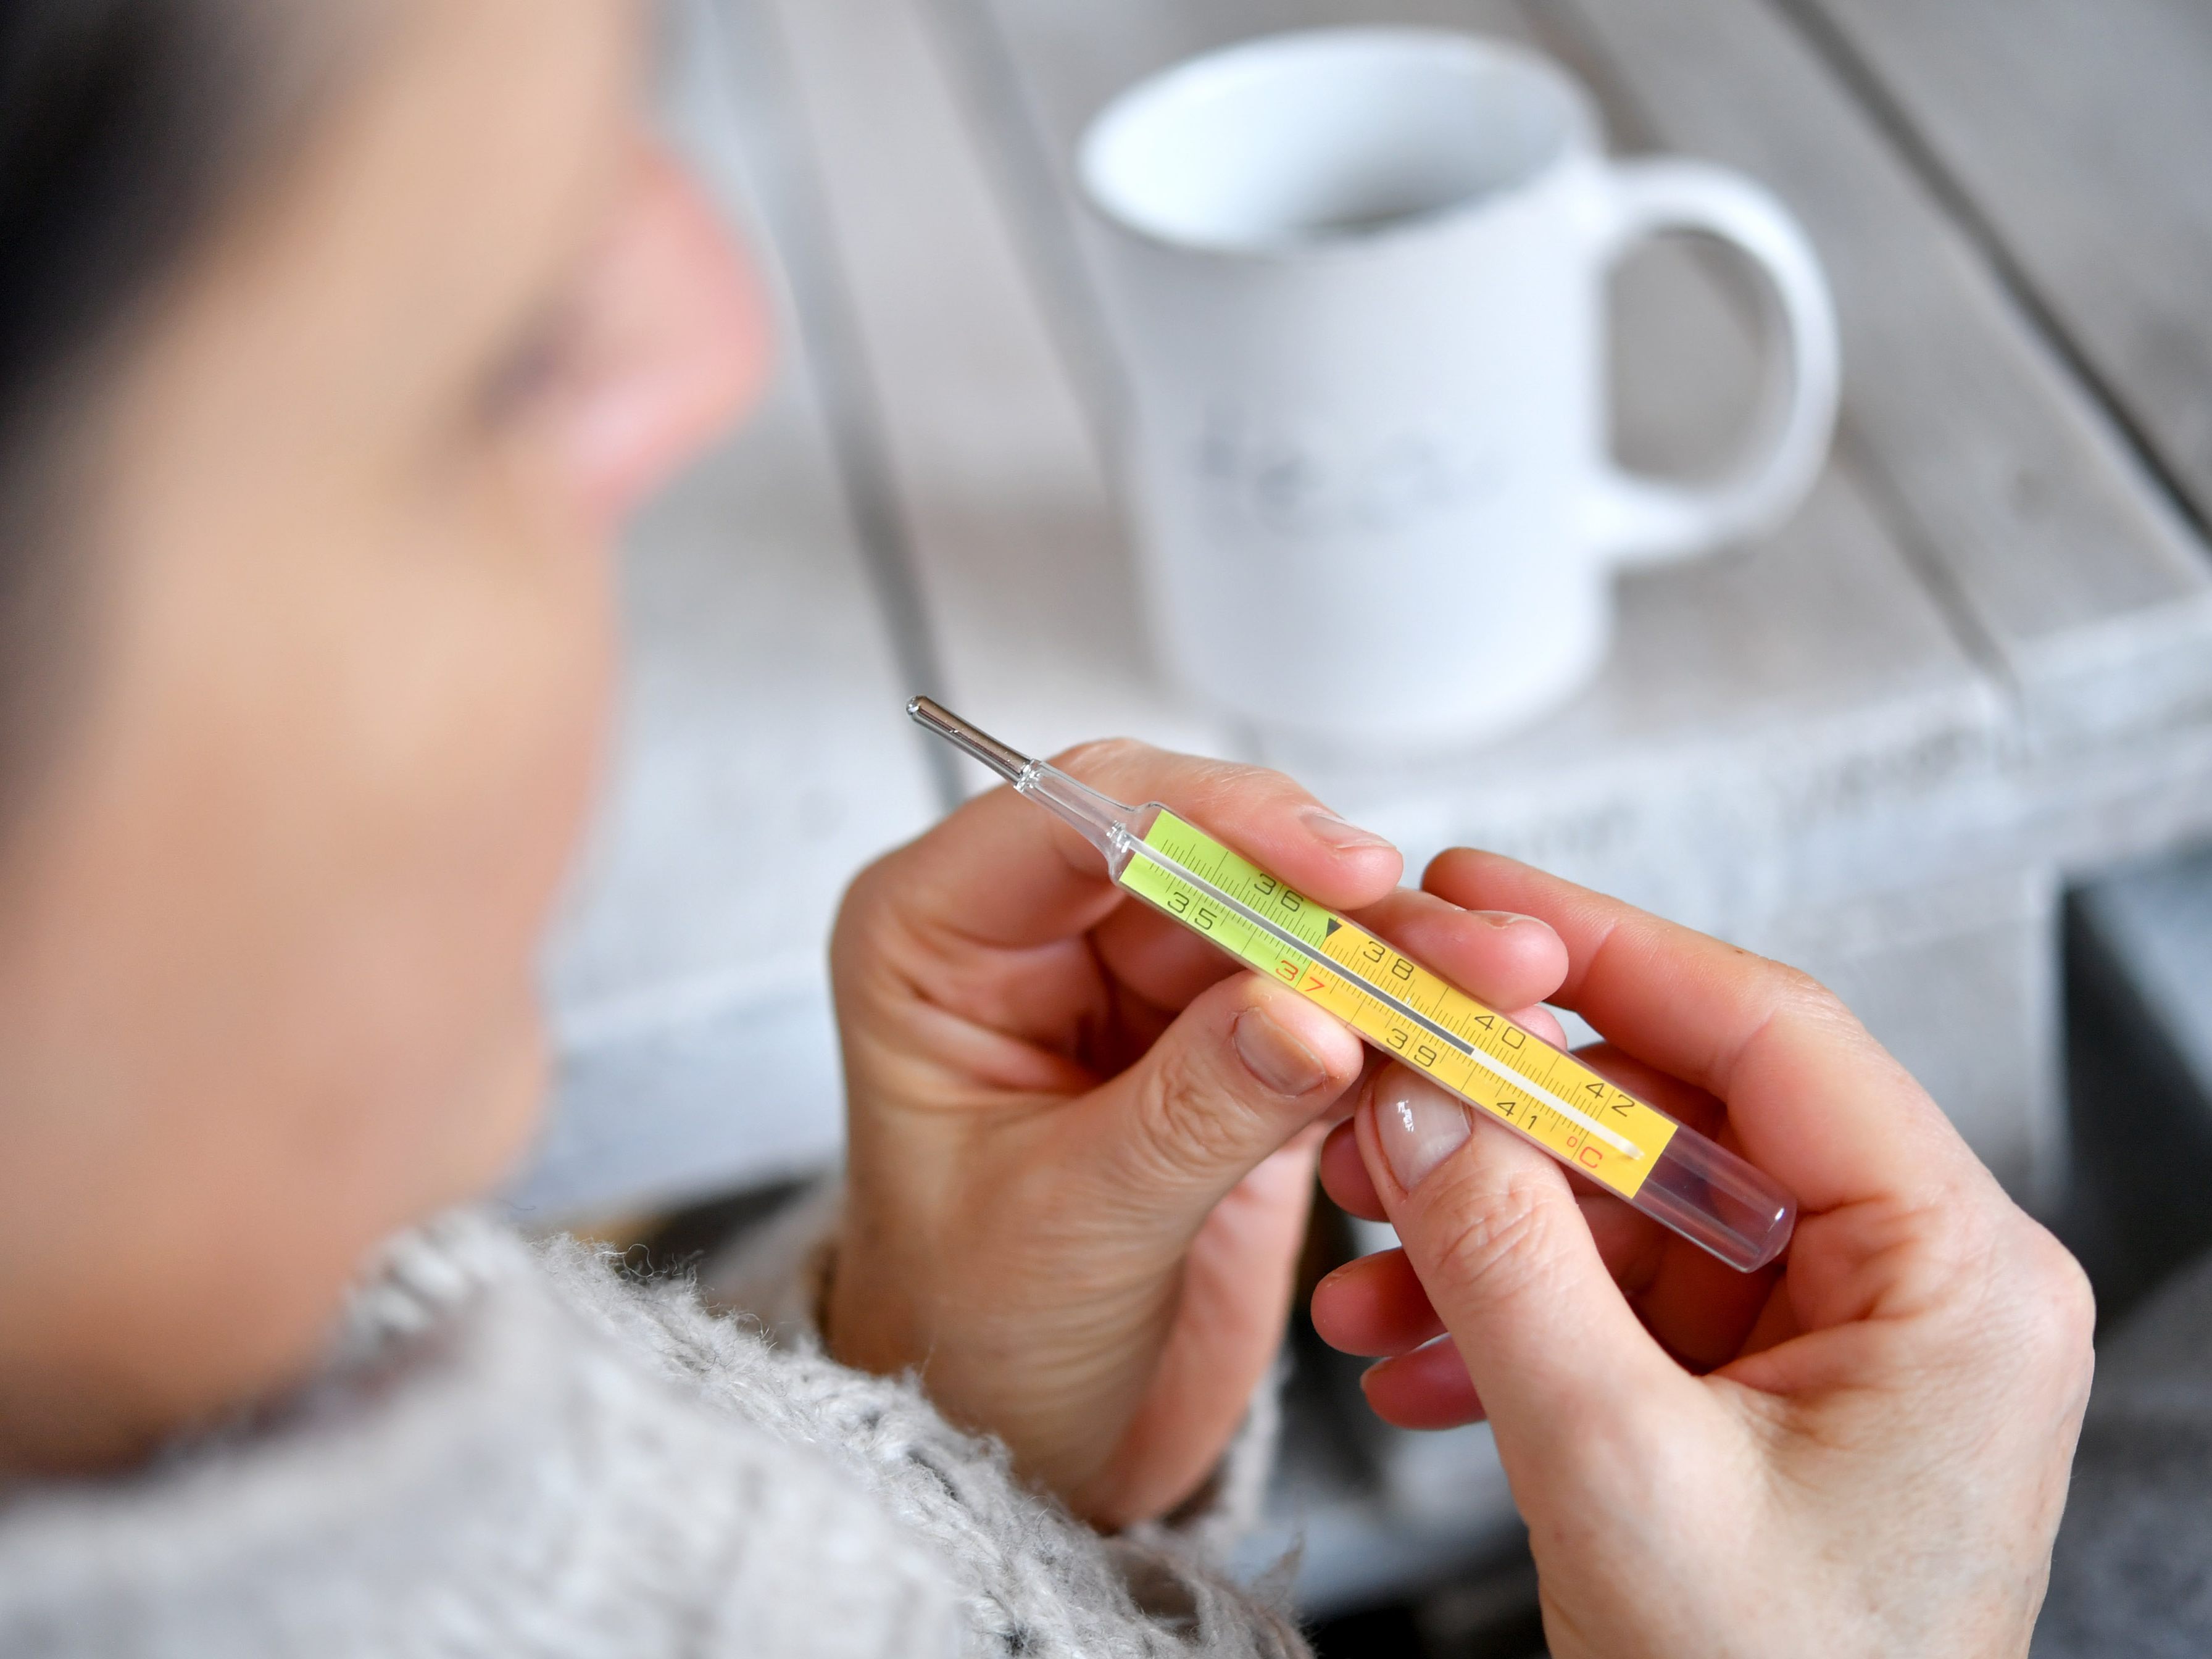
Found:
M 1851 434 L 2033 734 L 2095 739 L 2199 703 L 2201 549 L 1812 42 L 1770 0 L 1557 15 L 1584 22 L 1659 139 L 1759 173 L 1807 219 L 1843 312 Z

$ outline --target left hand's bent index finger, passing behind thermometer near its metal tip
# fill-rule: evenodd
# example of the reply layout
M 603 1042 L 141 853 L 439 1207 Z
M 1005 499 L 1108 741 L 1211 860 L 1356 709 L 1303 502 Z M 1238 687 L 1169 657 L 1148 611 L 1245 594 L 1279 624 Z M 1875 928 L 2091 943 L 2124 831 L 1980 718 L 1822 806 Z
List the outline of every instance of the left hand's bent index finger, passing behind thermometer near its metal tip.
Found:
M 1327 812 L 1279 772 L 1126 739 L 1086 743 L 1055 765 L 1133 807 L 1166 803 L 1332 909 L 1376 902 L 1405 869 L 1387 841 Z M 920 929 L 980 945 L 1066 938 L 1119 900 L 1097 849 L 1013 790 L 969 801 L 876 869 L 869 889 L 880 902 Z

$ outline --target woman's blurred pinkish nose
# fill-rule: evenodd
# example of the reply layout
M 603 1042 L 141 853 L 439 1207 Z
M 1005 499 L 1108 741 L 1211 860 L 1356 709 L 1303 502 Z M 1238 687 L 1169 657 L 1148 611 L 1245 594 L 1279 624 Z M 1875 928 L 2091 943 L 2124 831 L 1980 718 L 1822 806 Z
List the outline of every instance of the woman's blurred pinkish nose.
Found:
M 584 502 L 613 522 L 759 396 L 768 307 L 697 179 L 648 139 L 584 290 L 591 372 L 568 442 Z

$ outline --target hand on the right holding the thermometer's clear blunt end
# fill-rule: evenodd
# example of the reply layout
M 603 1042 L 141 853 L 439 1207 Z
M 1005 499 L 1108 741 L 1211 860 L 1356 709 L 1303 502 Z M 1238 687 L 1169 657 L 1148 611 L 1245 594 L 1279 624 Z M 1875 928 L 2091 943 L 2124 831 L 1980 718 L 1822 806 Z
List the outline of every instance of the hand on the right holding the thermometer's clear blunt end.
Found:
M 1332 1139 L 1332 1194 L 1405 1250 L 1314 1323 L 1391 1356 L 1383 1416 L 1491 1420 L 1551 1652 L 2026 1652 L 2090 1380 L 2073 1256 L 1805 975 L 1506 858 L 1425 887 L 1551 922 L 1584 1057 L 1801 1203 L 1739 1276 L 1402 1068 Z

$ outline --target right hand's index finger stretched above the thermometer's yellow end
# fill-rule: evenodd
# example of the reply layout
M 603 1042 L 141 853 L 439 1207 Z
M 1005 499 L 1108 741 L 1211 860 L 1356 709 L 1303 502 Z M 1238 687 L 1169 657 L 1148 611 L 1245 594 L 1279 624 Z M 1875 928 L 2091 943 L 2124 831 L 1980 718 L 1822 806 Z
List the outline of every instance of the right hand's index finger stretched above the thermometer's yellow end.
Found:
M 1805 1210 L 1991 1188 L 1905 1068 L 1803 973 L 1495 854 L 1447 852 L 1422 885 L 1551 922 L 1571 962 L 1553 1000 L 1725 1099 L 1745 1155 Z

